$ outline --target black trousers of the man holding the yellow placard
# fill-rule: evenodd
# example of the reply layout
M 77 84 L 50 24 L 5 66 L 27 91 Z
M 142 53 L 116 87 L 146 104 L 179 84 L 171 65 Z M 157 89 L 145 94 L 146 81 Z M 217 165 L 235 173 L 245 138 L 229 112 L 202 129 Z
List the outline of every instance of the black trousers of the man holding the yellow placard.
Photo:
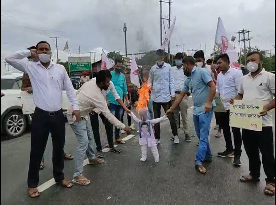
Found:
M 251 177 L 258 179 L 261 176 L 262 155 L 263 169 L 267 177 L 267 183 L 275 184 L 275 157 L 273 128 L 263 127 L 262 131 L 242 130 L 242 139 L 245 152 L 249 160 Z

